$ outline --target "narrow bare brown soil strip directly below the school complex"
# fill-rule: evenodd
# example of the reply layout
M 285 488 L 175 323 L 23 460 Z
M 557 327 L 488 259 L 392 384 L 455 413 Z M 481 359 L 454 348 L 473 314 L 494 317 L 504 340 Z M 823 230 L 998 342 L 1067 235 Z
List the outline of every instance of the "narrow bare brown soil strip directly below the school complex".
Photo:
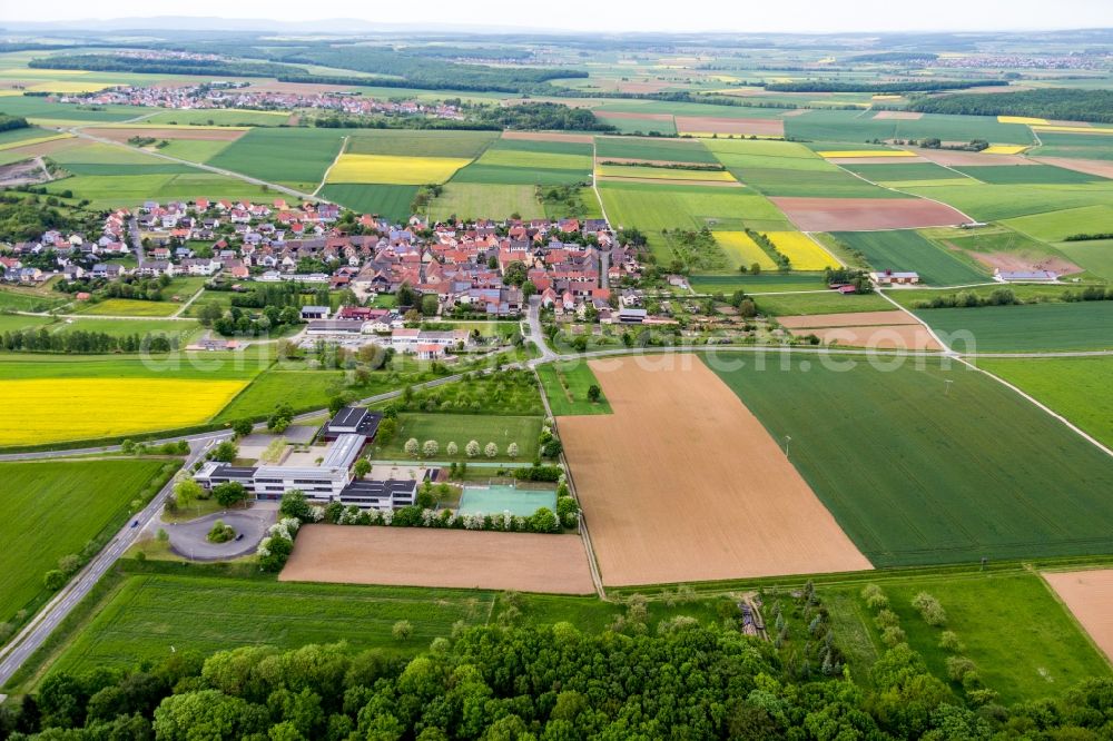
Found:
M 591 594 L 579 535 L 306 525 L 283 582 Z

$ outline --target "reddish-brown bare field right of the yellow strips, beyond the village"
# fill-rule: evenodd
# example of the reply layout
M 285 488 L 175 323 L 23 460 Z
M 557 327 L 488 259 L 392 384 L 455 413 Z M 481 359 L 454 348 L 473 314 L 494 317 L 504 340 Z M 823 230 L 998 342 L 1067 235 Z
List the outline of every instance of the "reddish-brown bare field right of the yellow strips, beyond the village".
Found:
M 923 198 L 770 198 L 800 231 L 873 231 L 954 226 L 971 219 Z

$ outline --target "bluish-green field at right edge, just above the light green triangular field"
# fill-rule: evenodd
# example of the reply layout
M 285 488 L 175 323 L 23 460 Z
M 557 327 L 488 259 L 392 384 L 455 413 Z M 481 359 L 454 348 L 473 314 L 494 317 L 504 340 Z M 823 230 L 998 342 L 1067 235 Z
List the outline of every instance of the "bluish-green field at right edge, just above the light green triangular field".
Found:
M 922 309 L 916 314 L 943 333 L 944 340 L 954 335 L 948 344 L 959 352 L 1113 349 L 1113 302 Z

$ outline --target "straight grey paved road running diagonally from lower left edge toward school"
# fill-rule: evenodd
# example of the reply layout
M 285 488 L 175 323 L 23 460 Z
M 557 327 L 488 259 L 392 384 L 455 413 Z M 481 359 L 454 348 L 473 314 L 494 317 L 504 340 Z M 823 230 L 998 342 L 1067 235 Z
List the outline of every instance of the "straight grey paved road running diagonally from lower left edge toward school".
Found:
M 211 441 L 194 444 L 184 467 L 188 470 L 193 466 L 210 446 Z M 171 480 L 166 483 L 166 486 L 155 495 L 139 514 L 131 517 L 120 528 L 116 537 L 100 553 L 93 556 L 92 561 L 86 564 L 85 569 L 70 580 L 69 584 L 63 586 L 39 611 L 31 622 L 20 631 L 19 635 L 0 650 L 0 686 L 8 683 L 12 674 L 27 661 L 28 656 L 46 642 L 50 633 L 58 628 L 66 616 L 69 615 L 70 611 L 89 594 L 97 582 L 112 567 L 116 560 L 131 547 L 139 533 L 162 511 L 162 503 L 173 488 L 174 481 Z M 132 526 L 134 522 L 138 522 L 138 525 Z

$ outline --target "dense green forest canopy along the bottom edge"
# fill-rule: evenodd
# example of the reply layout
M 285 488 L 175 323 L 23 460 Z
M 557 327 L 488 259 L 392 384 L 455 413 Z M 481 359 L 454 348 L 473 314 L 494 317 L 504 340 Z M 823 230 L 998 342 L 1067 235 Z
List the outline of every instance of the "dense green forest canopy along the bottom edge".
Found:
M 128 669 L 56 671 L 36 694 L 0 708 L 0 738 L 1107 738 L 1109 678 L 1084 680 L 1057 699 L 976 704 L 900 642 L 874 664 L 868 683 L 848 672 L 799 679 L 772 642 L 740 633 L 731 602 L 720 606 L 722 624 L 681 615 L 653 633 L 637 599 L 598 634 L 567 622 L 515 626 L 511 614 L 509 624 L 457 626 L 408 660 L 396 649 L 346 643 L 252 645 L 207 658 L 178 651 Z M 391 632 L 398 644 L 413 640 L 406 621 Z M 801 640 L 809 651 L 825 642 Z

